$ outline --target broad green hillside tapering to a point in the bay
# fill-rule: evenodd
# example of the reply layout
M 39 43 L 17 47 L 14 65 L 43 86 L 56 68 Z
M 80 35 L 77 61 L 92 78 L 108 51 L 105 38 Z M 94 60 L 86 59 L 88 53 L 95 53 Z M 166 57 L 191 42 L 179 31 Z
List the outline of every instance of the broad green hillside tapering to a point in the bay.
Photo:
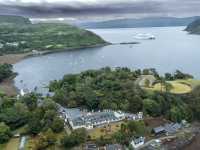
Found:
M 90 31 L 66 24 L 0 25 L 0 54 L 84 48 L 105 43 Z

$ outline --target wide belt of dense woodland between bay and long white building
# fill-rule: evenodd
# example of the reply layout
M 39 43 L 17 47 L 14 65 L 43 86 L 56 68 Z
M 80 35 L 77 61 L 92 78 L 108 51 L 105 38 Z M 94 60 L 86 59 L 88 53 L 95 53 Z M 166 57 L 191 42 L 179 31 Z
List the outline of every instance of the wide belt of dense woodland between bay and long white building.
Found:
M 144 111 L 146 115 L 165 116 L 172 121 L 198 118 L 192 108 L 198 105 L 191 104 L 192 100 L 198 99 L 191 94 L 176 95 L 143 90 L 135 84 L 141 74 L 153 74 L 158 82 L 169 76 L 168 73 L 166 77 L 160 77 L 155 69 L 131 71 L 128 68 L 106 67 L 65 75 L 62 80 L 52 81 L 49 89 L 55 93 L 53 100 L 67 107 L 123 110 L 131 113 Z M 180 71 L 170 74 L 170 79 L 189 77 L 192 76 Z

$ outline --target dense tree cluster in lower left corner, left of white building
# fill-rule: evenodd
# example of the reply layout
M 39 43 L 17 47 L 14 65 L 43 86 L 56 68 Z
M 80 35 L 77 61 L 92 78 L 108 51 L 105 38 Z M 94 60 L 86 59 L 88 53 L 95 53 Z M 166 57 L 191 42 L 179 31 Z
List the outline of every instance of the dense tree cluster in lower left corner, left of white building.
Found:
M 41 97 L 34 93 L 19 99 L 0 96 L 0 144 L 8 142 L 13 131 L 21 127 L 22 135 L 39 135 L 35 149 L 55 144 L 55 134 L 63 131 L 64 121 L 58 116 L 55 102 L 39 100 Z

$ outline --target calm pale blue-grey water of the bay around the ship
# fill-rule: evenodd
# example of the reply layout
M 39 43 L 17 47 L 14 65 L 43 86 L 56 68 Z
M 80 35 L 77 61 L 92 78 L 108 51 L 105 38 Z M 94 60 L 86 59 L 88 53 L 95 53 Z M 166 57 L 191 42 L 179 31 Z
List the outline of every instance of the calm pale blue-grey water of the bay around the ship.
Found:
M 64 74 L 78 73 L 105 66 L 156 68 L 160 73 L 180 69 L 200 78 L 200 36 L 188 35 L 185 27 L 95 29 L 95 33 L 112 43 L 137 41 L 137 33 L 150 33 L 156 40 L 141 40 L 137 45 L 109 45 L 101 48 L 48 54 L 25 59 L 14 65 L 19 73 L 15 78 L 18 88 L 44 92 L 49 81 Z M 20 81 L 23 80 L 23 83 Z

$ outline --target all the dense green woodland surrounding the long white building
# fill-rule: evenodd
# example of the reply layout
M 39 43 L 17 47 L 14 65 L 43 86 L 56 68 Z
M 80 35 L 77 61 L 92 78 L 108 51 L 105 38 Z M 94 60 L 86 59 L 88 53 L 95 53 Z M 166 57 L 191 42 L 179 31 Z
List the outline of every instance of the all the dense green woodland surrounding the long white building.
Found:
M 143 111 L 146 116 L 164 116 L 174 122 L 200 120 L 200 87 L 185 95 L 149 92 L 135 84 L 142 74 L 157 75 L 157 80 L 161 79 L 155 69 L 131 71 L 106 67 L 66 75 L 60 81 L 51 82 L 50 91 L 55 92 L 52 98 L 30 93 L 17 99 L 2 94 L 0 144 L 6 143 L 19 128 L 23 128 L 22 135 L 37 136 L 34 142 L 36 150 L 54 147 L 58 143 L 60 147 L 69 149 L 90 140 L 85 129 L 74 130 L 71 134 L 64 132 L 64 120 L 59 117 L 56 102 L 89 110 Z M 180 71 L 172 76 L 177 77 L 177 74 L 182 78 Z M 187 77 L 185 74 L 184 78 Z M 107 143 L 128 145 L 133 136 L 148 134 L 147 129 L 143 121 L 125 121 L 111 138 L 100 137 L 95 142 L 100 146 Z M 58 139 L 56 135 L 60 133 L 63 136 Z

